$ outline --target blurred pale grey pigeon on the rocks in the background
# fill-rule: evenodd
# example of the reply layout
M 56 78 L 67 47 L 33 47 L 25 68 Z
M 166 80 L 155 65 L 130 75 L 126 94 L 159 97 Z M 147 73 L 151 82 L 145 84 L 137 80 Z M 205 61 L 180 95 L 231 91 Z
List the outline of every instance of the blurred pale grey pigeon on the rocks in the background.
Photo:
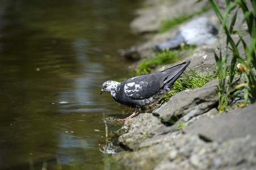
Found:
M 187 23 L 172 39 L 154 46 L 153 49 L 162 51 L 179 48 L 182 43 L 196 46 L 215 44 L 217 34 L 218 29 L 207 18 L 200 17 Z

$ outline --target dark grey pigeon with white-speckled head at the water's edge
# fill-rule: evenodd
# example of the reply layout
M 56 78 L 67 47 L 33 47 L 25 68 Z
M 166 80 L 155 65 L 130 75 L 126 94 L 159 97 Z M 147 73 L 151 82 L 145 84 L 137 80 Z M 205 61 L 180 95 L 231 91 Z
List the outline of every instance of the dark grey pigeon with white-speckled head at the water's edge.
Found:
M 102 84 L 100 95 L 105 91 L 110 92 L 118 103 L 136 108 L 135 112 L 129 116 L 134 117 L 139 114 L 140 108 L 141 113 L 145 113 L 146 106 L 156 103 L 167 94 L 188 65 L 190 61 L 153 74 L 129 78 L 121 83 L 108 80 Z M 125 121 L 126 118 L 119 120 Z

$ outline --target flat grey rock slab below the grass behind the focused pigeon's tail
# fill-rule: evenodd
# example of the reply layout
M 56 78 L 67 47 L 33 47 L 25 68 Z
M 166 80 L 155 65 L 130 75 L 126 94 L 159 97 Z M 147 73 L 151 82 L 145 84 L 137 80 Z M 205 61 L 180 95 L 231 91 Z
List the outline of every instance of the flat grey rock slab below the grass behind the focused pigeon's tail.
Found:
M 175 117 L 183 117 L 181 121 L 187 122 L 190 118 L 203 114 L 217 105 L 218 83 L 219 80 L 216 79 L 208 82 L 202 88 L 179 92 L 171 97 L 166 104 L 154 109 L 152 113 L 166 121 Z

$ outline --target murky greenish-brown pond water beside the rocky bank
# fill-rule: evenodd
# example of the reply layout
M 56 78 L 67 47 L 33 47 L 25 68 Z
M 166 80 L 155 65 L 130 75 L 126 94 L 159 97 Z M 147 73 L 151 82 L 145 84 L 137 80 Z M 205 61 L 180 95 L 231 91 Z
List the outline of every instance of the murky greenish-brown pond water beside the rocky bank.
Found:
M 137 2 L 0 3 L 0 169 L 102 169 L 103 113 L 133 109 L 99 92 L 129 76 L 116 50 L 137 39 L 128 29 Z

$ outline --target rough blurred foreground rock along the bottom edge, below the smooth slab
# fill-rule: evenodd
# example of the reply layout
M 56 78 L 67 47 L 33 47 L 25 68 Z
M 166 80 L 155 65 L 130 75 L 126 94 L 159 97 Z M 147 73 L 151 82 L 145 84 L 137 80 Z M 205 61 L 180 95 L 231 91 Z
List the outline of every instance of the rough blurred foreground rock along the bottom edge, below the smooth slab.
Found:
M 247 135 L 205 142 L 195 134 L 174 132 L 140 141 L 137 150 L 121 151 L 113 158 L 129 169 L 250 169 L 256 165 L 255 141 Z

